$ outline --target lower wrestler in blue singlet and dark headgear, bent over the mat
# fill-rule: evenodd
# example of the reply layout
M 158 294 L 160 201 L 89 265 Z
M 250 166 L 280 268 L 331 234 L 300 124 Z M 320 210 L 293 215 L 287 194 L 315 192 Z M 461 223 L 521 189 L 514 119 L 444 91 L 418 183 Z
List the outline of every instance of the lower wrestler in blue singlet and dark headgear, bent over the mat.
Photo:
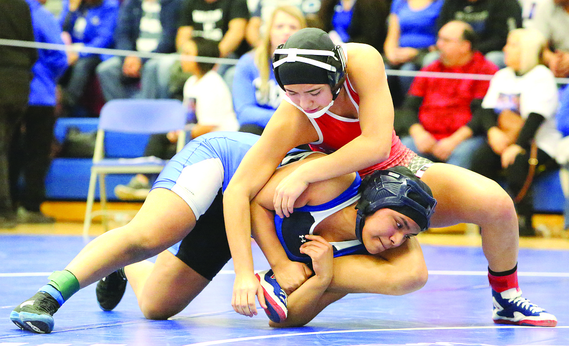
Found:
M 112 310 L 125 292 L 125 274 L 146 318 L 178 314 L 231 258 L 223 193 L 258 138 L 220 131 L 193 139 L 164 167 L 133 220 L 86 245 L 64 270 L 53 273 L 47 285 L 16 307 L 10 319 L 27 331 L 49 333 L 61 305 L 103 277 L 97 284 L 97 300 L 103 310 Z M 259 208 L 244 215 L 254 226 L 268 221 L 273 228 L 263 226 L 254 236 L 263 252 L 269 250 L 265 256 L 281 275 L 282 290 L 290 293 L 288 304 L 282 306 L 288 318 L 279 320 L 280 326 L 307 323 L 349 292 L 401 295 L 424 285 L 427 268 L 413 236 L 428 228 L 436 201 L 426 184 L 405 167 L 398 168 L 407 173 L 390 168 L 364 181 L 351 173 L 311 185 L 298 200 L 295 217 L 281 220 L 277 230 L 282 234 L 302 229 L 304 238 L 292 235 L 291 241 L 275 243 L 275 215 L 266 209 L 272 208 L 275 186 L 299 165 L 324 155 L 295 149 L 290 154 L 259 192 Z M 312 261 L 312 268 L 295 257 L 288 259 L 283 246 L 303 262 Z M 368 256 L 346 256 L 355 253 Z M 142 261 L 156 254 L 155 263 Z M 341 257 L 332 264 L 333 256 Z M 295 275 L 298 271 L 302 277 Z M 265 304 L 262 290 L 257 294 L 263 308 L 273 305 Z M 311 299 L 303 301 L 302 296 Z

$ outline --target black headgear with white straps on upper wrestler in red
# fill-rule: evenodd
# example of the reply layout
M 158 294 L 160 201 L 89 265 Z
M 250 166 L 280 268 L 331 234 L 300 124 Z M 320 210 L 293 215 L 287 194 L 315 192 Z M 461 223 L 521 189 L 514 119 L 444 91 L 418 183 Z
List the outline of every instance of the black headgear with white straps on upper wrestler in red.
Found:
M 328 84 L 336 100 L 346 77 L 346 59 L 326 32 L 304 28 L 275 50 L 273 70 L 283 90 L 290 84 Z

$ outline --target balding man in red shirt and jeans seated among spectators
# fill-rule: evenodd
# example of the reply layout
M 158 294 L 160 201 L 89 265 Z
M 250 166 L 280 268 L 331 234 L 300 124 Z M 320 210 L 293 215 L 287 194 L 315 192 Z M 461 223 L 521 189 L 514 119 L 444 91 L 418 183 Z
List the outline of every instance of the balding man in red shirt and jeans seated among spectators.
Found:
M 476 50 L 476 33 L 453 20 L 439 30 L 439 59 L 421 69 L 427 72 L 493 75 L 498 68 Z M 481 104 L 489 82 L 472 79 L 415 77 L 398 117 L 409 125 L 401 142 L 434 162 L 470 169 L 473 152 L 484 143 L 480 131 Z

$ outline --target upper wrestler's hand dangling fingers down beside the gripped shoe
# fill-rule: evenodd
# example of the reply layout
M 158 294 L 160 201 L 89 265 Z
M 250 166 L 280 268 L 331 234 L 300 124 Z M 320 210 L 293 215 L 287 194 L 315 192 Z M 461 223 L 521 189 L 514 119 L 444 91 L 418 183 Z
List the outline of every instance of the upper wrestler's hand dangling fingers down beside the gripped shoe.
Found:
M 257 295 L 257 299 L 259 299 L 261 307 L 263 309 L 267 308 L 265 296 L 263 295 L 263 287 L 257 277 L 255 277 L 255 274 L 236 275 L 235 282 L 233 283 L 233 297 L 231 299 L 233 310 L 238 314 L 249 317 L 257 315 L 255 295 Z

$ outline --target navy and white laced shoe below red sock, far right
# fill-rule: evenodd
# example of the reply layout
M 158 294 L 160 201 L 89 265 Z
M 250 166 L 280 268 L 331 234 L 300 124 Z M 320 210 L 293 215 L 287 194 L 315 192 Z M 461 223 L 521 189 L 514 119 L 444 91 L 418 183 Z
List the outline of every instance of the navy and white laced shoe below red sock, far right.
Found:
M 519 289 L 509 289 L 502 293 L 492 290 L 492 301 L 494 323 L 534 327 L 557 326 L 554 315 L 522 298 L 522 291 Z

